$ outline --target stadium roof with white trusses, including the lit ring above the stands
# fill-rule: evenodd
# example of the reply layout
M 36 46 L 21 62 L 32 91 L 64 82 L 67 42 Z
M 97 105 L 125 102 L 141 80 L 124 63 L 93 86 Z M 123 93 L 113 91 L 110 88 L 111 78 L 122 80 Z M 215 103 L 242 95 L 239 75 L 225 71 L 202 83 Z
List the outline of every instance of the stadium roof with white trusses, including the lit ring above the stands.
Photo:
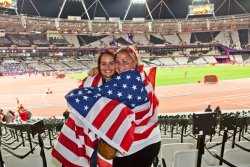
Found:
M 173 34 L 250 28 L 249 0 L 12 1 L 16 8 L 0 8 L 5 32 Z

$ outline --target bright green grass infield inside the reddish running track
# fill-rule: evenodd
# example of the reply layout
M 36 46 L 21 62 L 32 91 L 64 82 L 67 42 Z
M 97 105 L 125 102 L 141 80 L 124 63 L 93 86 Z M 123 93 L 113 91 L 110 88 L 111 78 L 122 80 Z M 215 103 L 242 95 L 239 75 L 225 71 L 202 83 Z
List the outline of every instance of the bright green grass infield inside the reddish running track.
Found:
M 218 80 L 250 78 L 250 66 L 194 66 L 158 68 L 156 86 L 167 86 L 203 82 L 205 75 L 217 75 Z M 83 79 L 86 73 L 67 74 L 68 77 Z

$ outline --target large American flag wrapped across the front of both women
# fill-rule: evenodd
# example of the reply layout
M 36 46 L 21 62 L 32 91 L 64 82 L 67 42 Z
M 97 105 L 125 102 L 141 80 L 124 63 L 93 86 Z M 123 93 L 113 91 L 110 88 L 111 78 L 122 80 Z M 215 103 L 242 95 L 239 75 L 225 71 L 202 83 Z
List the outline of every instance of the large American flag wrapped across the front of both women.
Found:
M 102 138 L 126 155 L 156 127 L 158 100 L 143 70 L 124 72 L 100 87 L 66 95 L 71 109 L 52 155 L 67 167 L 89 166 L 93 141 Z

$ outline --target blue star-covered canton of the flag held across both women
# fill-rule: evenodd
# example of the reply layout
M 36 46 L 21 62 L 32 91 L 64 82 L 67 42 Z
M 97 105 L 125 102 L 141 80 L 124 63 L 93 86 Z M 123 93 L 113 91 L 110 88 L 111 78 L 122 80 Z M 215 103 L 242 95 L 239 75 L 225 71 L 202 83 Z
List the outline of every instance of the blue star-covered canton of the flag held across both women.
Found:
M 102 97 L 117 100 L 130 109 L 149 101 L 145 85 L 137 70 L 117 75 L 100 87 L 74 89 L 65 96 L 68 103 L 84 117 Z

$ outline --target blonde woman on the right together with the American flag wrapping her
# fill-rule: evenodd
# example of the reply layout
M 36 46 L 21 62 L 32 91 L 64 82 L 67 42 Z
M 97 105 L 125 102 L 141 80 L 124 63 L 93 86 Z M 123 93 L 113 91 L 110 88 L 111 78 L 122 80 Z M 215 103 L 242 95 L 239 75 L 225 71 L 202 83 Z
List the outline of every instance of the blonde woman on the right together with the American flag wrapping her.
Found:
M 89 148 L 93 148 L 91 142 L 96 136 L 118 150 L 114 167 L 150 167 L 159 152 L 158 100 L 143 67 L 138 66 L 136 53 L 122 48 L 116 53 L 114 64 L 117 75 L 109 82 L 76 89 L 66 96 L 72 119 L 65 123 L 62 135 L 73 141 L 75 149 L 70 148 L 70 154 L 63 153 L 67 143 L 60 140 L 60 135 L 60 144 L 52 152 L 66 166 L 88 165 L 93 153 Z M 111 71 L 104 70 L 110 77 Z M 72 135 L 76 137 L 72 139 Z

